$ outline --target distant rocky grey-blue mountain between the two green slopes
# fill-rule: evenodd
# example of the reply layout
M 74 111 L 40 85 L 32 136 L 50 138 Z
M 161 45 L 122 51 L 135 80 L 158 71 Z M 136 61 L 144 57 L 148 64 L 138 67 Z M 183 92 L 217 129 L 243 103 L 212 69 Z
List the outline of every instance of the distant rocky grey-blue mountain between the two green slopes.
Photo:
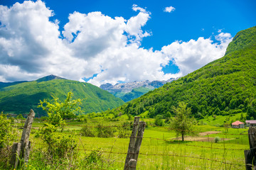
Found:
M 118 98 L 121 98 L 124 102 L 127 102 L 174 80 L 175 79 L 169 79 L 167 81 L 134 81 L 115 85 L 102 84 L 100 88 L 110 92 L 110 94 L 113 94 Z

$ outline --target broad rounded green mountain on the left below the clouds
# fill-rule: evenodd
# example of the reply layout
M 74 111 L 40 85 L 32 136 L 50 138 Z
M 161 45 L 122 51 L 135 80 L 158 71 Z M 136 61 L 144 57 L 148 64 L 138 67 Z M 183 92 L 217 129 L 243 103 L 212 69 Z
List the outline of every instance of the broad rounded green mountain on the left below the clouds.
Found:
M 63 101 L 69 91 L 73 91 L 75 99 L 83 99 L 81 108 L 85 113 L 106 111 L 108 108 L 116 108 L 124 103 L 97 86 L 54 75 L 36 81 L 2 84 L 6 84 L 6 86 L 0 86 L 0 110 L 4 113 L 24 114 L 29 113 L 32 108 L 37 117 L 46 115 L 41 108 L 37 108 L 39 101 L 44 98 L 50 100 L 52 96 Z

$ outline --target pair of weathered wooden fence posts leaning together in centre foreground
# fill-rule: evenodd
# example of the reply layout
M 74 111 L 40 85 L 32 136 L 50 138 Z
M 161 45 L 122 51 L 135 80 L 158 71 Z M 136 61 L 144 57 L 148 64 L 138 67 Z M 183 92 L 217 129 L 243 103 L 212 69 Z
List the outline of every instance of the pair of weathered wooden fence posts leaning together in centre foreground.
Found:
M 142 138 L 144 135 L 144 130 L 146 128 L 146 123 L 143 121 L 139 122 L 138 128 L 138 122 L 139 117 L 135 117 L 134 127 L 132 129 L 132 135 L 130 137 L 129 148 L 127 152 L 127 158 L 125 159 L 124 170 L 136 170 L 137 159 L 139 157 L 139 149 L 140 146 L 142 145 Z

